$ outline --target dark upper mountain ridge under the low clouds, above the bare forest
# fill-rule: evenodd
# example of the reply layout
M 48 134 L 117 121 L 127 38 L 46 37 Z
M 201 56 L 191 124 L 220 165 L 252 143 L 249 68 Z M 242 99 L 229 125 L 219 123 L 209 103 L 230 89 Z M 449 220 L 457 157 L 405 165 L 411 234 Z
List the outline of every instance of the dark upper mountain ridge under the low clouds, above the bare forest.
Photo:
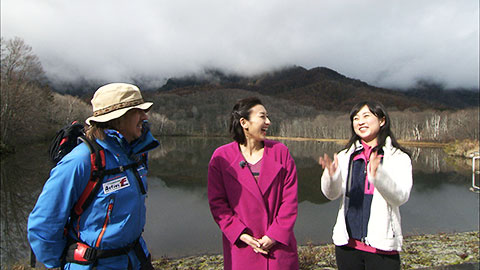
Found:
M 375 99 L 390 109 L 462 109 L 478 106 L 479 92 L 445 90 L 441 85 L 421 82 L 407 91 L 368 85 L 332 69 L 289 67 L 251 77 L 206 70 L 203 75 L 170 78 L 158 89 L 178 95 L 213 89 L 244 89 L 311 106 L 323 111 L 348 111 L 360 100 Z

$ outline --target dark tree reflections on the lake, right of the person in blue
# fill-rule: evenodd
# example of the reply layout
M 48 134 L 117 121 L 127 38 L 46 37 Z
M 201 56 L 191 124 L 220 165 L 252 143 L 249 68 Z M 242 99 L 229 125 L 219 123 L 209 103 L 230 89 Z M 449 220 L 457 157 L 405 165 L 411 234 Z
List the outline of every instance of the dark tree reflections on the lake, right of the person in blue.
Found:
M 229 141 L 228 138 L 163 138 L 161 147 L 151 154 L 150 175 L 161 178 L 168 187 L 189 189 L 205 186 L 210 156 L 216 147 Z M 289 148 L 297 165 L 300 202 L 327 202 L 320 190 L 321 168 L 317 159 L 323 153 L 332 156 L 343 145 L 316 141 L 282 142 Z M 414 166 L 414 183 L 421 191 L 435 189 L 445 183 L 464 183 L 465 177 L 471 177 L 468 167 L 458 168 L 449 163 L 440 148 L 410 147 L 408 150 Z

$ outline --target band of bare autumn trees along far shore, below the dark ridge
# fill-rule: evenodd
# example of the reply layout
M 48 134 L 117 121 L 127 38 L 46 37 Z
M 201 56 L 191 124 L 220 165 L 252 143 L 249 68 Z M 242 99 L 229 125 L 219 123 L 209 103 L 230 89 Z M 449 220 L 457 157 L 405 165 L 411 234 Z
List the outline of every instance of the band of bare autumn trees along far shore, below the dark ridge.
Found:
M 229 115 L 236 100 L 255 95 L 262 99 L 272 121 L 268 134 L 281 137 L 350 137 L 350 122 L 345 112 L 317 111 L 287 100 L 259 95 L 241 89 L 219 89 L 180 96 L 148 95 L 154 106 L 149 113 L 152 132 L 158 136 L 229 136 Z M 214 98 L 212 98 L 214 97 Z M 91 115 L 86 102 L 70 95 L 53 93 L 49 114 L 58 128 Z M 479 139 L 479 108 L 461 110 L 393 110 L 392 129 L 406 141 L 448 142 Z

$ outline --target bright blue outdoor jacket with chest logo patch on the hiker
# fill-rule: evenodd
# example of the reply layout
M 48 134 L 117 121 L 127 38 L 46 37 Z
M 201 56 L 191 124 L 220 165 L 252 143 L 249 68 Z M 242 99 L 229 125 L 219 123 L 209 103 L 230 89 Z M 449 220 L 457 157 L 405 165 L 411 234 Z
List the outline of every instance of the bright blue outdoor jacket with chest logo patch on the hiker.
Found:
M 97 143 L 105 149 L 106 170 L 138 162 L 159 145 L 149 131 L 131 144 L 115 130 L 105 133 L 106 138 L 97 139 Z M 148 189 L 146 164 L 145 158 L 145 163 L 136 168 L 106 175 L 89 207 L 81 216 L 71 217 L 72 207 L 90 179 L 91 160 L 84 143 L 67 154 L 50 172 L 28 218 L 28 240 L 37 259 L 49 268 L 61 266 L 67 241 L 72 239 L 100 250 L 119 249 L 137 241 L 148 256 L 141 238 L 146 222 L 146 194 L 142 192 L 142 188 Z M 140 261 L 132 250 L 125 255 L 98 259 L 94 265 L 65 265 L 65 269 L 93 267 L 140 269 Z

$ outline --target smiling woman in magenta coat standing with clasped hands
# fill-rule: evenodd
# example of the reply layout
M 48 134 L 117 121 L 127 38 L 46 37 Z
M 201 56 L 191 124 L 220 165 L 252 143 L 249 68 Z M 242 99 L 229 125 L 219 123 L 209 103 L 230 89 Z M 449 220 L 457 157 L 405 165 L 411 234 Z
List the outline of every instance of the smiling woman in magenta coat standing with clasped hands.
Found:
M 208 202 L 223 233 L 224 269 L 298 269 L 297 172 L 285 145 L 266 140 L 268 114 L 242 99 L 230 117 L 235 140 L 208 166 Z

